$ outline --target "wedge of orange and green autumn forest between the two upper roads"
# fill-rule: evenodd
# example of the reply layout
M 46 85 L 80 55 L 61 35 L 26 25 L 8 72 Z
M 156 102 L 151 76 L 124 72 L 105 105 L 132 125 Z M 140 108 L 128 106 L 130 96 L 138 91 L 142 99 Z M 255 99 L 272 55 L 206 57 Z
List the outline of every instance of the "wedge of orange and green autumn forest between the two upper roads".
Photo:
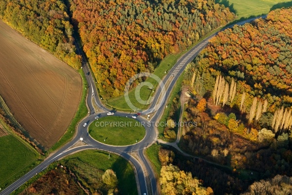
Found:
M 70 0 L 70 4 L 105 98 L 120 96 L 128 78 L 153 72 L 166 55 L 185 50 L 234 19 L 215 0 Z

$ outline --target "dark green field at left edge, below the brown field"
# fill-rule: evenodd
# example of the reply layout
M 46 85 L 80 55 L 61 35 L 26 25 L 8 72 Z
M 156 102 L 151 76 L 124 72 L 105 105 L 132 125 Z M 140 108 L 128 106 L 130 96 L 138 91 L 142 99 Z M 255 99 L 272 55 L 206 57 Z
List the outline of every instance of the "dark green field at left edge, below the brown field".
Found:
M 12 135 L 0 137 L 0 188 L 2 189 L 36 165 L 37 152 L 23 142 Z

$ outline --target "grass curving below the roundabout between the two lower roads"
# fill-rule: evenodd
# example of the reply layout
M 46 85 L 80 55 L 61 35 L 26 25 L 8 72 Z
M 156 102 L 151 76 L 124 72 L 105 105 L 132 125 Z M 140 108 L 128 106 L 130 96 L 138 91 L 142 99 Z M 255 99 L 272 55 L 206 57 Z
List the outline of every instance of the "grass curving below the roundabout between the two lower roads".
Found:
M 128 161 L 121 156 L 110 154 L 109 159 L 109 153 L 107 152 L 87 150 L 68 156 L 58 162 L 68 167 L 77 167 L 75 171 L 79 171 L 78 175 L 84 175 L 84 173 L 81 173 L 80 171 L 85 170 L 87 172 L 86 177 L 91 175 L 91 167 L 99 169 L 103 172 L 107 169 L 112 169 L 118 178 L 118 188 L 120 190 L 119 194 L 138 194 L 134 170 L 130 163 L 128 163 Z M 94 177 L 94 175 L 92 176 Z M 94 179 L 96 178 L 92 178 L 92 180 Z

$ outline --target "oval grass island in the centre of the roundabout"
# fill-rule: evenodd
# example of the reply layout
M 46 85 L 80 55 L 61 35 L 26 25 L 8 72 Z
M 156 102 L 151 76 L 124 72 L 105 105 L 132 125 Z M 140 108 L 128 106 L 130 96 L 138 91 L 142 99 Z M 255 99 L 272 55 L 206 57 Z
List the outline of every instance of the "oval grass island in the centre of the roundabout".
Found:
M 101 117 L 90 124 L 88 131 L 95 140 L 114 146 L 131 145 L 145 136 L 144 126 L 130 117 Z

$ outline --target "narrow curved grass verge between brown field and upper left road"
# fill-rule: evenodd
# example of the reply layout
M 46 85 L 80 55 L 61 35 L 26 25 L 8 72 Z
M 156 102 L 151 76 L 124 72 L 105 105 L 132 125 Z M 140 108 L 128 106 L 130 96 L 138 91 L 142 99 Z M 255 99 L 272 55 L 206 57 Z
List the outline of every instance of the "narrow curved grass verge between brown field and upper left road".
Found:
M 85 75 L 83 73 L 82 69 L 78 70 L 81 78 L 82 78 L 82 97 L 78 105 L 77 112 L 75 113 L 75 116 L 73 120 L 71 121 L 69 127 L 67 128 L 67 131 L 65 134 L 54 144 L 54 146 L 49 150 L 49 153 L 55 151 L 56 149 L 60 148 L 61 146 L 65 145 L 74 135 L 75 130 L 76 130 L 76 125 L 78 122 L 84 118 L 87 113 L 87 107 L 86 107 L 86 94 L 87 90 L 85 89 L 87 84 L 87 80 L 85 78 Z

